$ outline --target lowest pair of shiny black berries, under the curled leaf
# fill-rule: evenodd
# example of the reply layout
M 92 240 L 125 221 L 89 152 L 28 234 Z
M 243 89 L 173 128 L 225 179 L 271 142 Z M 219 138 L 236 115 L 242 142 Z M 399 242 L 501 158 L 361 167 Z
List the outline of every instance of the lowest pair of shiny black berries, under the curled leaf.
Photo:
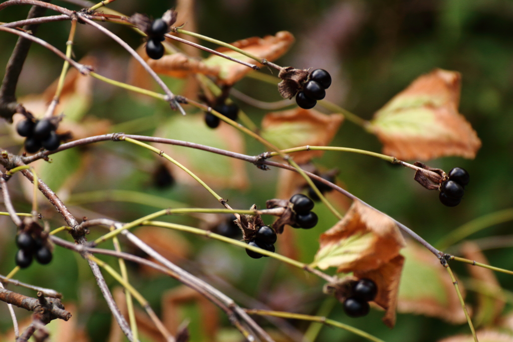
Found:
M 378 287 L 370 279 L 360 279 L 353 284 L 351 295 L 344 300 L 344 311 L 349 317 L 362 317 L 369 313 L 369 301 L 376 298 Z

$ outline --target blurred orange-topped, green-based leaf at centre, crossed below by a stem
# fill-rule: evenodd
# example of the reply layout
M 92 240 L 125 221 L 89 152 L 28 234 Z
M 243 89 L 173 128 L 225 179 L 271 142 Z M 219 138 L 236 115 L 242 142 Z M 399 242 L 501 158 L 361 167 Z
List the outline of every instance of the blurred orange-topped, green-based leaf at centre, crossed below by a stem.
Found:
M 267 113 L 262 120 L 262 136 L 280 149 L 298 146 L 326 146 L 337 134 L 344 120 L 341 114 L 323 114 L 312 109 L 296 108 Z M 293 154 L 295 162 L 307 163 L 323 151 L 301 151 Z

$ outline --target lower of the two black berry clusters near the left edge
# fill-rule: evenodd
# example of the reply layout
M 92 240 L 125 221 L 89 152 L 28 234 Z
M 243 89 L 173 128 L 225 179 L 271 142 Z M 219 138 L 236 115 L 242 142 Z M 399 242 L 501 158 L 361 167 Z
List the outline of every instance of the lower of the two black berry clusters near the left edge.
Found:
M 16 236 L 16 246 L 19 248 L 16 253 L 16 265 L 21 268 L 29 267 L 33 256 L 41 265 L 52 261 L 52 252 L 40 237 L 34 238 L 30 233 L 21 232 Z

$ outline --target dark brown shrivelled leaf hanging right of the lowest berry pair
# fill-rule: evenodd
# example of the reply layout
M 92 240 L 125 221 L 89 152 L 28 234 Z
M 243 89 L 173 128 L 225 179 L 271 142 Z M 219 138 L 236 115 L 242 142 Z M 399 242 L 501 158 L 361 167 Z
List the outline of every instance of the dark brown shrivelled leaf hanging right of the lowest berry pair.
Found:
M 403 269 L 404 256 L 398 255 L 381 265 L 378 269 L 369 271 L 354 271 L 354 276 L 363 279 L 371 279 L 378 286 L 378 294 L 374 302 L 386 310 L 382 318 L 383 323 L 389 328 L 396 325 L 397 293 Z

